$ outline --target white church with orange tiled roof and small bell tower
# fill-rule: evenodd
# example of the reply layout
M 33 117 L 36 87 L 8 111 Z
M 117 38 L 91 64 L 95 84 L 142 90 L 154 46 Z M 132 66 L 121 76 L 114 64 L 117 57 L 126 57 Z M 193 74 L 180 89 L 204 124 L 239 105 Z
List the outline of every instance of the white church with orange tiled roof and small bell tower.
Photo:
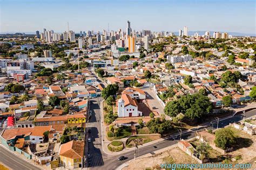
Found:
M 118 100 L 118 117 L 137 117 L 142 116 L 142 112 L 138 111 L 138 103 L 136 99 L 131 98 L 128 94 L 122 94 Z

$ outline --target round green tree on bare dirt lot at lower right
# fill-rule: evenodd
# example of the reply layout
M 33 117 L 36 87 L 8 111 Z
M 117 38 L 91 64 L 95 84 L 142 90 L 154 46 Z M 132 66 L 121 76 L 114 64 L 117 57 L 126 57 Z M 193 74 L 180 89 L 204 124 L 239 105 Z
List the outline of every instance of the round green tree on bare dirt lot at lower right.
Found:
M 221 149 L 231 148 L 235 144 L 234 133 L 227 128 L 221 128 L 215 132 L 214 143 Z

